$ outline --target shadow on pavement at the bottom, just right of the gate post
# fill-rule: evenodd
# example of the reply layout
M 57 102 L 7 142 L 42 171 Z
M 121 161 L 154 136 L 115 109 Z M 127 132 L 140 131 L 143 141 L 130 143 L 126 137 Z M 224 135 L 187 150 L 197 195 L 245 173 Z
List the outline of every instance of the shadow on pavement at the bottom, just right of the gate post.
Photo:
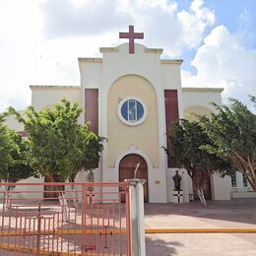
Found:
M 165 242 L 157 235 L 146 235 L 146 255 L 147 256 L 170 256 L 177 254 L 176 246 L 183 246 L 178 241 Z

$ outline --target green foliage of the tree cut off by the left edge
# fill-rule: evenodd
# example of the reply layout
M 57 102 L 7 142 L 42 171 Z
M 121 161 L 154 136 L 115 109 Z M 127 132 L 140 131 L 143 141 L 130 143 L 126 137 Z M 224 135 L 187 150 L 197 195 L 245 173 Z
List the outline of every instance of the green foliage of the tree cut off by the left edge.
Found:
M 28 163 L 30 143 L 4 124 L 6 115 L 0 115 L 0 179 L 17 182 L 32 176 Z

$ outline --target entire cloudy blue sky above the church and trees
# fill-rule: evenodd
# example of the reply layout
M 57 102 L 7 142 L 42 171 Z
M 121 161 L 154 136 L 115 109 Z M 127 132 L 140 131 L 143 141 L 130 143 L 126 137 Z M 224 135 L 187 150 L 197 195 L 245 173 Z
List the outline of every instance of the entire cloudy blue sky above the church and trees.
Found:
M 255 0 L 0 0 L 0 111 L 31 103 L 30 85 L 79 85 L 78 57 L 124 41 L 183 58 L 183 87 L 222 87 L 248 103 L 256 85 Z

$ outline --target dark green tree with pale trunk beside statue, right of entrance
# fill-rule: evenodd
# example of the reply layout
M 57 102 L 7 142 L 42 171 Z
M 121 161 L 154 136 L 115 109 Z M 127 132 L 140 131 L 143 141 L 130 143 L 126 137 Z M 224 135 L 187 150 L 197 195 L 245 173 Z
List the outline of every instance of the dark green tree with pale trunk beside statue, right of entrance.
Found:
M 196 121 L 181 119 L 179 123 L 170 127 L 167 140 L 170 147 L 169 150 L 164 150 L 169 160 L 172 160 L 176 166 L 186 169 L 200 201 L 206 205 L 203 190 L 205 177 L 209 178 L 214 172 L 227 174 L 231 171 L 230 162 L 201 148 L 206 144 L 212 145 L 212 141 Z

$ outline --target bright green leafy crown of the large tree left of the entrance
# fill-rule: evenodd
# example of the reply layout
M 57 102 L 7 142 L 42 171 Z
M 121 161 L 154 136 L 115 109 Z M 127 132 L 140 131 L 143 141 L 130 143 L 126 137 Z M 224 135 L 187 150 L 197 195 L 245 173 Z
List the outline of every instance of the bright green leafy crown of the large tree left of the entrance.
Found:
M 22 116 L 15 109 L 18 121 L 29 133 L 32 145 L 31 166 L 36 173 L 52 182 L 74 181 L 77 172 L 94 168 L 102 151 L 102 138 L 78 124 L 82 110 L 78 103 L 62 99 L 54 109 L 35 111 L 30 106 Z

